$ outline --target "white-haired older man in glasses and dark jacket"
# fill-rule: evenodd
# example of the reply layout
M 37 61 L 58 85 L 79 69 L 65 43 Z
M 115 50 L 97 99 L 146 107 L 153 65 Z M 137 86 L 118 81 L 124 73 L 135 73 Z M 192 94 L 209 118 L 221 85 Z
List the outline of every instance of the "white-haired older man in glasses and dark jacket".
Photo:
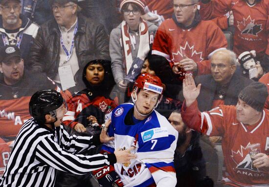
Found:
M 229 50 L 216 52 L 211 59 L 211 75 L 197 76 L 195 83 L 202 83 L 198 96 L 200 111 L 220 105 L 236 105 L 239 92 L 252 83 L 236 71 L 236 55 Z

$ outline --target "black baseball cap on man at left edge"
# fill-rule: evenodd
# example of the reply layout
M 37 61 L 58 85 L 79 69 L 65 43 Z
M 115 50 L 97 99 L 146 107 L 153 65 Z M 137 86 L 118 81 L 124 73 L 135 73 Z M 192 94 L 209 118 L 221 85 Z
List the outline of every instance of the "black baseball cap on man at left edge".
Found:
M 7 62 L 13 57 L 22 58 L 21 51 L 16 45 L 6 45 L 0 48 L 0 62 Z

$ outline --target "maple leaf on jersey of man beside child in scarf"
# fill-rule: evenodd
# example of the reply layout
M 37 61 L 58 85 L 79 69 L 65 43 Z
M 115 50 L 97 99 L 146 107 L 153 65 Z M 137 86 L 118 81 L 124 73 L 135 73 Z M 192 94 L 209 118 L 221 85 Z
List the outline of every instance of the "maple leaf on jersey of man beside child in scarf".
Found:
M 194 45 L 190 46 L 188 42 L 185 43 L 184 47 L 180 46 L 178 52 L 176 53 L 172 52 L 172 55 L 173 55 L 172 61 L 174 63 L 181 61 L 183 59 L 183 55 L 186 55 L 188 58 L 194 60 L 195 62 L 203 61 L 202 52 L 197 52 L 194 49 Z

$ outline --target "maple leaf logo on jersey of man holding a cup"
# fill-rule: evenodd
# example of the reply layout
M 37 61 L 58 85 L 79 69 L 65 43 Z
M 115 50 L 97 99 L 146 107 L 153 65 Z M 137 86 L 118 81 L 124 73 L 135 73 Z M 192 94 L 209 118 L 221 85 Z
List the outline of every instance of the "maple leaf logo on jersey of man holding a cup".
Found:
M 250 145 L 250 143 L 248 143 L 247 145 Z M 248 169 L 251 171 L 259 172 L 259 170 L 253 166 L 250 155 L 248 154 L 247 151 L 247 146 L 244 147 L 240 145 L 240 150 L 237 151 L 232 150 L 231 157 L 235 162 L 235 164 L 237 165 L 236 166 L 237 169 Z

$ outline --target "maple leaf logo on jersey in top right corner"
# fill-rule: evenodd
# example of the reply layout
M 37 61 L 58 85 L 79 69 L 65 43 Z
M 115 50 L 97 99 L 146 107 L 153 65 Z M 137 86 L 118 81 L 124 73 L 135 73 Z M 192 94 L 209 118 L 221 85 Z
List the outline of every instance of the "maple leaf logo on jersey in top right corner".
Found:
M 261 32 L 262 24 L 255 23 L 255 20 L 251 20 L 250 16 L 247 19 L 244 18 L 243 21 L 237 21 L 237 27 L 241 31 L 241 34 L 251 34 L 258 36 L 257 34 Z

